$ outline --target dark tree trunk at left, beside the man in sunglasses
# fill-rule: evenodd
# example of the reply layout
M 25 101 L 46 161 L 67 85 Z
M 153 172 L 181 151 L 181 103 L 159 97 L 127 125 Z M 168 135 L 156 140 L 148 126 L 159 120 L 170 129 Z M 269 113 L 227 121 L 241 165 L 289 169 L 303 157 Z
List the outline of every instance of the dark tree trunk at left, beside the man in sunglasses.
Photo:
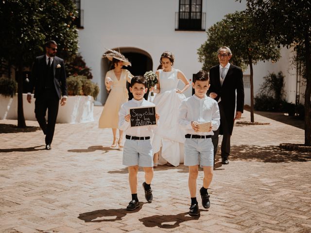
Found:
M 25 128 L 26 122 L 24 117 L 24 109 L 23 109 L 23 73 L 22 73 L 22 63 L 18 65 L 17 69 L 17 127 Z

